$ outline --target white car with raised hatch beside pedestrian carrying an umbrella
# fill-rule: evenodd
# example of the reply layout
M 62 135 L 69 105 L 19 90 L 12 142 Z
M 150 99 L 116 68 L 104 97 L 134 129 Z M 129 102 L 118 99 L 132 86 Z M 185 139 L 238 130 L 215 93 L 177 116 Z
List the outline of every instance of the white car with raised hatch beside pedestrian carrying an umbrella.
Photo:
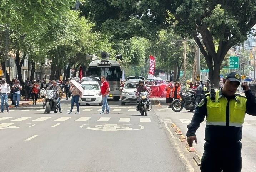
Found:
M 81 103 L 94 104 L 99 103 L 102 105 L 102 95 L 100 85 L 96 81 L 84 81 L 81 83 L 81 87 L 84 89 L 82 98 L 79 98 L 79 105 Z

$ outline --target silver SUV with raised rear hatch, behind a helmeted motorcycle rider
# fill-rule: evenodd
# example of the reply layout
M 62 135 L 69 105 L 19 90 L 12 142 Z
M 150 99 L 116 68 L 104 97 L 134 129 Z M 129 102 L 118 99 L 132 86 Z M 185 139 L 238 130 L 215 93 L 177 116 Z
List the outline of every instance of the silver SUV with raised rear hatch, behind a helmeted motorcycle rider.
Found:
M 124 88 L 120 87 L 121 90 L 121 105 L 125 105 L 125 103 L 136 103 L 137 96 L 134 91 L 137 90 L 139 86 L 139 80 L 145 80 L 142 76 L 129 76 L 124 84 Z M 145 85 L 145 82 L 144 82 Z

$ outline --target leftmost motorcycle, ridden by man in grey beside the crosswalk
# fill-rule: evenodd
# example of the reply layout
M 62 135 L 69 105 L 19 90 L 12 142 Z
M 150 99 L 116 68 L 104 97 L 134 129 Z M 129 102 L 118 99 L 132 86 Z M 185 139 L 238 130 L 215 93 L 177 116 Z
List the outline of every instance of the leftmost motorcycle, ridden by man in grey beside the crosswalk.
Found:
M 50 113 L 51 111 L 54 111 L 54 113 L 58 112 L 59 109 L 59 103 L 57 102 L 58 95 L 56 91 L 54 90 L 45 90 L 42 88 L 40 90 L 40 95 L 44 97 L 43 101 L 43 108 L 45 107 L 46 113 Z

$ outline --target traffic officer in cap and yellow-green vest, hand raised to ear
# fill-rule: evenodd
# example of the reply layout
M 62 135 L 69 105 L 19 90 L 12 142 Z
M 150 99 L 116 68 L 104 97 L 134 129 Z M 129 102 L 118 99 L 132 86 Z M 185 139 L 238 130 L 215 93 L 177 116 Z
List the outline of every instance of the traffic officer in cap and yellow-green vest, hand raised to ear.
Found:
M 242 169 L 241 139 L 245 113 L 256 115 L 256 98 L 249 85 L 242 83 L 245 95 L 236 93 L 241 76 L 236 72 L 227 75 L 224 86 L 216 93 L 207 93 L 196 108 L 187 126 L 187 142 L 197 143 L 196 130 L 206 116 L 202 172 L 240 172 Z

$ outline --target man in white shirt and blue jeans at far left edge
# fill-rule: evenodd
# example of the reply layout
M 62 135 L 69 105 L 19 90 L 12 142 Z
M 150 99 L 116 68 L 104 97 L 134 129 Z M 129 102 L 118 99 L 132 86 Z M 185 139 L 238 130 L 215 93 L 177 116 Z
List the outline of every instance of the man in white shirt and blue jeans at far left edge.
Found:
M 11 88 L 9 84 L 6 83 L 5 78 L 2 78 L 1 82 L 2 84 L 0 84 L 0 92 L 1 92 L 1 112 L 0 113 L 4 112 L 4 102 L 5 102 L 5 107 L 7 112 L 10 112 L 8 107 L 8 94 L 10 94 Z

